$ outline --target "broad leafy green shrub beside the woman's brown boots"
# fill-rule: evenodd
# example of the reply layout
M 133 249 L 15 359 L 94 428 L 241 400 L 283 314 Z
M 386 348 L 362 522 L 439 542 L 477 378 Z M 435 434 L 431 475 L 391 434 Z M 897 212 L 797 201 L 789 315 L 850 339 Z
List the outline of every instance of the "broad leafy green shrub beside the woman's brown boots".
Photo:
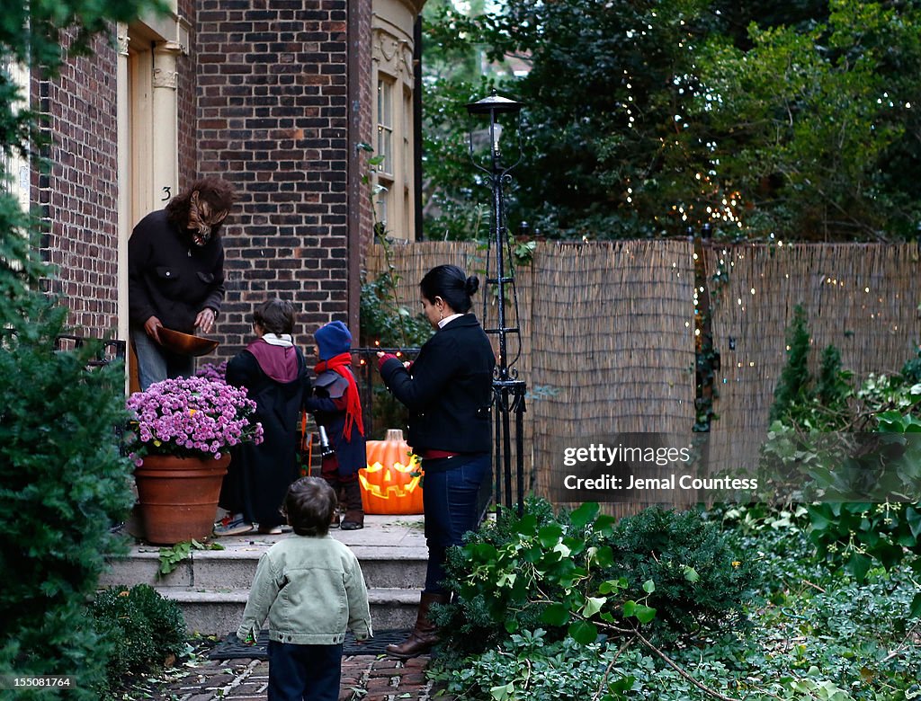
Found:
M 549 641 L 590 642 L 598 628 L 651 623 L 647 635 L 676 638 L 738 624 L 752 565 L 715 526 L 660 509 L 616 525 L 597 513 L 589 503 L 554 516 L 530 499 L 521 518 L 505 514 L 453 548 L 447 583 L 456 601 L 436 615 L 446 647 L 481 651 L 539 627 Z

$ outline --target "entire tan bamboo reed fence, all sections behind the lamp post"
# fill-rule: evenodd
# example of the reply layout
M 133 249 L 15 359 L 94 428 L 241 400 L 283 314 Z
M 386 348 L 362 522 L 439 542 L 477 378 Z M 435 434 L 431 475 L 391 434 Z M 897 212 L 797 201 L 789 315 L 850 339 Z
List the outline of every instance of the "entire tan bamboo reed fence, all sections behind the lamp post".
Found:
M 514 358 L 514 335 L 508 351 L 529 390 L 524 446 L 530 491 L 549 495 L 564 469 L 559 451 L 570 442 L 628 432 L 690 434 L 692 256 L 685 241 L 542 242 L 531 265 L 516 270 L 520 357 Z M 471 242 L 394 246 L 401 304 L 418 310 L 419 280 L 430 268 L 453 263 L 480 276 L 473 311 L 484 328 L 494 328 L 497 309 L 485 283 L 485 259 L 486 250 Z M 718 419 L 708 435 L 711 471 L 755 465 L 797 304 L 809 317 L 816 364 L 829 343 L 858 378 L 898 371 L 915 356 L 921 338 L 917 262 L 914 245 L 705 247 L 707 281 L 727 271 L 725 282 L 708 282 L 721 358 Z M 382 248 L 373 247 L 368 276 L 386 265 Z

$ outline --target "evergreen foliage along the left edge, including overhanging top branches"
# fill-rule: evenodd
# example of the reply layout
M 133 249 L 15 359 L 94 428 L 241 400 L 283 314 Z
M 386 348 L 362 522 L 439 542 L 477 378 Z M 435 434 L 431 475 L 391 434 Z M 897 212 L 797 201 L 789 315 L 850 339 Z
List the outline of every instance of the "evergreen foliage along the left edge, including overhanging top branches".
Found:
M 86 53 L 99 32 L 158 0 L 30 0 L 0 13 L 0 151 L 28 155 L 44 142 L 9 67 L 52 79 L 65 52 Z M 6 158 L 0 158 L 6 164 Z M 8 178 L 4 170 L 2 178 Z M 68 699 L 97 701 L 110 643 L 87 626 L 87 602 L 104 557 L 117 549 L 111 524 L 132 502 L 131 464 L 119 453 L 124 368 L 90 369 L 99 345 L 57 351 L 67 309 L 41 293 L 54 274 L 39 254 L 41 226 L 0 187 L 0 674 L 69 675 Z M 22 692 L 50 699 L 59 690 Z

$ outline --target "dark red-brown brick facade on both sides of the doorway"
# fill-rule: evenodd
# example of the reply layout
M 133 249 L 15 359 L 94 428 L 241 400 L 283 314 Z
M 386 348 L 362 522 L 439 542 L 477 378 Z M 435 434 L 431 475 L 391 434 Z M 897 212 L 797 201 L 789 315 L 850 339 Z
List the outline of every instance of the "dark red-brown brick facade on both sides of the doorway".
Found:
M 180 187 L 218 175 L 239 193 L 225 227 L 222 344 L 208 360 L 251 339 L 251 312 L 269 296 L 297 305 L 308 349 L 333 318 L 357 327 L 371 232 L 354 148 L 370 141 L 370 0 L 180 0 L 179 14 L 190 23 L 177 64 Z M 87 336 L 118 326 L 118 53 L 106 39 L 60 78 L 32 81 L 52 138 L 51 171 L 32 183 L 50 224 L 42 254 Z

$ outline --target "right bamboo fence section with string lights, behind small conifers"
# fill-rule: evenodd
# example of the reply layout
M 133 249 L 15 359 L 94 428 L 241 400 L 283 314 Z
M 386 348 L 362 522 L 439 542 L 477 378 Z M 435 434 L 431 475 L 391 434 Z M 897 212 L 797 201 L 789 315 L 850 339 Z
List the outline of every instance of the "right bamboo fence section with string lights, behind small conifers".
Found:
M 858 379 L 897 372 L 915 356 L 921 324 L 914 244 L 714 246 L 706 258 L 709 270 L 728 273 L 711 290 L 721 356 L 711 470 L 757 464 L 796 305 L 808 316 L 813 372 L 829 344 Z

